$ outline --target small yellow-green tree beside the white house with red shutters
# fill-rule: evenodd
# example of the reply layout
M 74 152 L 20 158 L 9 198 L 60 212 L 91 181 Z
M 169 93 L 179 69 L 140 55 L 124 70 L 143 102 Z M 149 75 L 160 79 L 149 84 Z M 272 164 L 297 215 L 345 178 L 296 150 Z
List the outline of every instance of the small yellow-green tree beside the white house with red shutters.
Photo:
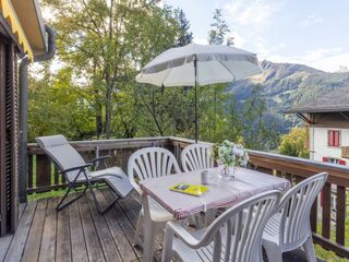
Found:
M 282 155 L 309 158 L 309 151 L 305 147 L 308 132 L 305 128 L 292 128 L 288 134 L 281 138 L 279 152 Z

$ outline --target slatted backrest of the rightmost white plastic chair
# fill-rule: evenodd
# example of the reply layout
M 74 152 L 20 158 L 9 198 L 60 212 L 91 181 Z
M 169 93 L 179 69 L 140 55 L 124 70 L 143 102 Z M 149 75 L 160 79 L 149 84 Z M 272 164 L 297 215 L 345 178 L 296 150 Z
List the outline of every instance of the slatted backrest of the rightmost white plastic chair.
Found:
M 326 172 L 312 176 L 296 184 L 282 196 L 279 205 L 279 242 L 282 249 L 294 249 L 309 237 L 311 207 L 327 176 Z

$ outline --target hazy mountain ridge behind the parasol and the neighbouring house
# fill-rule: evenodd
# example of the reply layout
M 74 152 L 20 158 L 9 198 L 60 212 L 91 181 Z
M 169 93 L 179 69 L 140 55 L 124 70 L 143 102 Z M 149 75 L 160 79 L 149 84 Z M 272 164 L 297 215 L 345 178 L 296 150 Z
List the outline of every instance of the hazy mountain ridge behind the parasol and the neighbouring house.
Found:
M 234 94 L 239 103 L 243 104 L 251 95 L 253 87 L 261 84 L 260 95 L 266 102 L 267 118 L 282 121 L 281 133 L 300 122 L 294 116 L 285 115 L 287 109 L 335 88 L 349 86 L 349 72 L 329 73 L 303 64 L 274 63 L 266 60 L 260 66 L 262 74 L 238 81 L 229 85 L 227 90 Z

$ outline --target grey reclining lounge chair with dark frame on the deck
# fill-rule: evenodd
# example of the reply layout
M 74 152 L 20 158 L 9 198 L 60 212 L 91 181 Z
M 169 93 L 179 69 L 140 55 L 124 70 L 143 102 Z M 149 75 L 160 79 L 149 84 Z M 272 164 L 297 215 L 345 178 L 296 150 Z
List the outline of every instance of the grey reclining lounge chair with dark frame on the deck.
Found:
M 71 146 L 68 140 L 61 135 L 41 136 L 36 138 L 36 142 L 48 154 L 52 160 L 58 165 L 60 174 L 64 177 L 69 183 L 69 188 L 57 205 L 56 210 L 60 211 L 73 203 L 77 199 L 84 195 L 87 189 L 91 190 L 95 200 L 96 207 L 99 213 L 105 213 L 109 210 L 119 198 L 125 198 L 133 189 L 130 183 L 129 177 L 122 171 L 120 167 L 110 167 L 103 170 L 89 171 L 88 168 L 99 163 L 104 163 L 106 166 L 106 159 L 110 156 L 103 156 L 89 162 L 85 162 L 77 151 Z M 101 209 L 96 194 L 92 188 L 94 183 L 104 182 L 110 189 L 113 195 L 111 203 L 104 210 Z M 69 195 L 70 191 L 76 190 L 76 187 L 85 186 L 83 192 L 74 199 L 64 203 L 64 200 Z

